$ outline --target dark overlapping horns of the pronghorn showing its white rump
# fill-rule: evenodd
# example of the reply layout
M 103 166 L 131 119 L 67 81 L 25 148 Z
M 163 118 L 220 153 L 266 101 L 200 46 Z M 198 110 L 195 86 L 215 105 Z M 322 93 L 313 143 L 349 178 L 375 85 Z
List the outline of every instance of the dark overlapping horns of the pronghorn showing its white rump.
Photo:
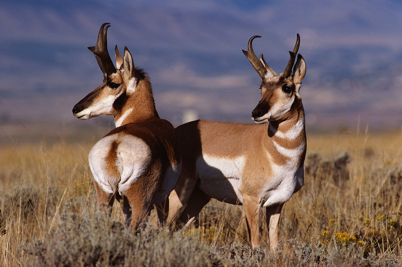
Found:
M 110 23 L 103 23 L 102 26 L 100 26 L 96 45 L 94 47 L 88 47 L 88 49 L 94 53 L 96 61 L 98 61 L 98 65 L 105 75 L 116 72 L 115 65 L 107 51 L 107 29 L 110 27 L 108 24 Z

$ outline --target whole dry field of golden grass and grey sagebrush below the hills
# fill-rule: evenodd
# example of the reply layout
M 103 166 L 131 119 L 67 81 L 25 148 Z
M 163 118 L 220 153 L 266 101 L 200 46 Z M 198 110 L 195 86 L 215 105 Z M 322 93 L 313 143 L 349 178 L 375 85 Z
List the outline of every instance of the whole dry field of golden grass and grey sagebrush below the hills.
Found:
M 105 218 L 88 152 L 106 132 L 2 143 L 0 266 L 402 266 L 401 130 L 308 132 L 305 184 L 283 208 L 277 253 L 265 223 L 252 251 L 242 207 L 217 201 L 175 233 L 125 229 L 118 204 Z

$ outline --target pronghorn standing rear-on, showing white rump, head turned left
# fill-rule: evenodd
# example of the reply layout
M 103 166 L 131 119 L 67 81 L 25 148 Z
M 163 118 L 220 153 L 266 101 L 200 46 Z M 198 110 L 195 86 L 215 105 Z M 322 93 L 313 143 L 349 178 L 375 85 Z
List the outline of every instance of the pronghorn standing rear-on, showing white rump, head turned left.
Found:
M 79 119 L 115 117 L 116 128 L 89 152 L 97 201 L 105 213 L 110 207 L 110 215 L 115 198 L 122 200 L 125 223 L 143 227 L 154 205 L 160 206 L 158 216 L 164 220 L 164 201 L 178 179 L 181 157 L 174 128 L 159 118 L 149 78 L 134 67 L 127 47 L 123 57 L 115 47 L 117 69 L 113 65 L 107 24 L 100 27 L 96 46 L 88 47 L 103 72 L 103 84 L 78 102 L 73 113 Z

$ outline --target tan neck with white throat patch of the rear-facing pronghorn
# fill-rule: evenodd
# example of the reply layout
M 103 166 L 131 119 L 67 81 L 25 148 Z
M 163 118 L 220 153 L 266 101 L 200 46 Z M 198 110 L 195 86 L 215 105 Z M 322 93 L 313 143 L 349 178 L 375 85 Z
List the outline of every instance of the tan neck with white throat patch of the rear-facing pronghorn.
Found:
M 155 108 L 155 101 L 152 95 L 152 87 L 147 79 L 139 81 L 135 90 L 127 97 L 122 96 L 121 107 L 116 105 L 118 111 L 115 115 L 116 127 L 125 125 L 127 123 L 138 123 L 152 119 L 159 118 L 158 112 Z

